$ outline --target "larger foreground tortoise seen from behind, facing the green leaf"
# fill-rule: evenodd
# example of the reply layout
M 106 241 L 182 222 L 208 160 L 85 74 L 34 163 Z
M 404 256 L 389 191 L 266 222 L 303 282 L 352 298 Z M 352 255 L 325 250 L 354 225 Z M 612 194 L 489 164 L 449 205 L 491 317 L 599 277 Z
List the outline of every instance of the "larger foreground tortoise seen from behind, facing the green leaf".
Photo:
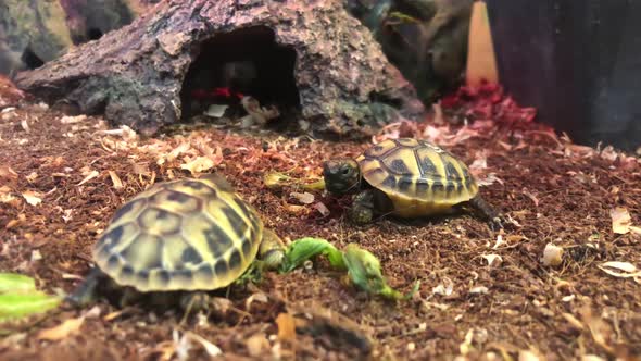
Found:
M 68 299 L 86 304 L 104 286 L 123 290 L 121 306 L 152 295 L 206 308 L 206 291 L 231 284 L 257 253 L 275 267 L 282 242 L 222 176 L 159 183 L 115 212 L 93 247 L 97 267 Z

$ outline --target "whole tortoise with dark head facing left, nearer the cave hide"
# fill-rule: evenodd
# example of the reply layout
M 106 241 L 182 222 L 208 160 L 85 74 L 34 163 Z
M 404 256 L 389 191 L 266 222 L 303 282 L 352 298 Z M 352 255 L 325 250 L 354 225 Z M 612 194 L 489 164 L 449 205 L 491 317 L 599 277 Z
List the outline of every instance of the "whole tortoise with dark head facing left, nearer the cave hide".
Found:
M 354 194 L 349 216 L 354 223 L 372 222 L 376 214 L 419 217 L 450 212 L 468 203 L 500 226 L 498 213 L 478 192 L 467 166 L 450 152 L 425 140 L 388 139 L 356 159 L 324 164 L 326 189 Z

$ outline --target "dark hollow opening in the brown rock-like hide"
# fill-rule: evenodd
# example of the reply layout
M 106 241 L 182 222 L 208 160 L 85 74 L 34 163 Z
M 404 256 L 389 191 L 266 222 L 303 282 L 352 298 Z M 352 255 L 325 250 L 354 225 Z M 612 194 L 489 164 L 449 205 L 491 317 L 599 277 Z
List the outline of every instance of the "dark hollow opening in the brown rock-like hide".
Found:
M 279 119 L 287 121 L 300 109 L 296 59 L 296 51 L 276 43 L 274 32 L 265 26 L 202 42 L 180 90 L 183 121 L 203 114 L 212 104 L 228 105 L 225 116 L 244 115 L 242 96 L 255 98 L 262 107 L 277 107 Z

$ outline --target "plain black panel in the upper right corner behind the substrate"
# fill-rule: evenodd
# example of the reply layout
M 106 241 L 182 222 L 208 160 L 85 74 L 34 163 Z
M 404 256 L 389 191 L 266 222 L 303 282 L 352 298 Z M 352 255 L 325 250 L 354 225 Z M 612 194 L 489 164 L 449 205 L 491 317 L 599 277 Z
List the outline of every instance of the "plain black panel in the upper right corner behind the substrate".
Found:
M 641 1 L 487 0 L 501 83 L 573 140 L 641 145 Z

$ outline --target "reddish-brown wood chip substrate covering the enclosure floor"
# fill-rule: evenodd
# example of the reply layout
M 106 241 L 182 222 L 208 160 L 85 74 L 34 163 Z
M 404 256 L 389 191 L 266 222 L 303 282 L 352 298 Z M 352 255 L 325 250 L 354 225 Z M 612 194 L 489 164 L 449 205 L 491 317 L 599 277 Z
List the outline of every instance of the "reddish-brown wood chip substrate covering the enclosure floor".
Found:
M 419 291 L 399 302 L 369 297 L 318 261 L 269 274 L 251 287 L 232 287 L 226 312 L 183 326 L 180 314 L 139 307 L 61 308 L 10 325 L 0 339 L 2 360 L 156 360 L 184 351 L 189 359 L 208 359 L 201 344 L 187 349 L 174 341 L 187 331 L 234 360 L 353 360 L 367 358 L 368 345 L 368 357 L 398 360 L 641 354 L 639 277 L 616 277 L 600 267 L 606 261 L 641 266 L 641 235 L 613 233 L 611 215 L 615 207 L 625 208 L 631 223 L 641 225 L 641 174 L 633 158 L 541 132 L 526 129 L 521 137 L 479 132 L 445 148 L 475 164 L 488 184 L 481 194 L 514 221 L 502 234 L 468 214 L 355 227 L 342 217 L 343 200 L 314 192 L 312 203 L 301 204 L 290 194 L 302 190 L 268 190 L 263 175 L 318 175 L 325 159 L 355 155 L 366 144 L 214 127 L 155 139 L 108 129 L 100 119 L 64 119 L 37 105 L 2 114 L 0 270 L 34 276 L 48 291 L 71 291 L 114 210 L 151 182 L 189 175 L 205 157 L 211 162 L 205 165 L 225 174 L 284 238 L 323 237 L 339 248 L 357 242 L 380 259 L 392 287 L 405 292 L 419 279 Z M 433 136 L 442 127 L 431 129 Z M 541 262 L 548 244 L 565 249 L 557 266 Z M 288 320 L 279 314 L 300 309 L 332 315 L 303 322 L 296 335 L 279 334 L 278 325 Z M 68 320 L 81 323 L 59 340 L 40 339 L 42 329 Z

